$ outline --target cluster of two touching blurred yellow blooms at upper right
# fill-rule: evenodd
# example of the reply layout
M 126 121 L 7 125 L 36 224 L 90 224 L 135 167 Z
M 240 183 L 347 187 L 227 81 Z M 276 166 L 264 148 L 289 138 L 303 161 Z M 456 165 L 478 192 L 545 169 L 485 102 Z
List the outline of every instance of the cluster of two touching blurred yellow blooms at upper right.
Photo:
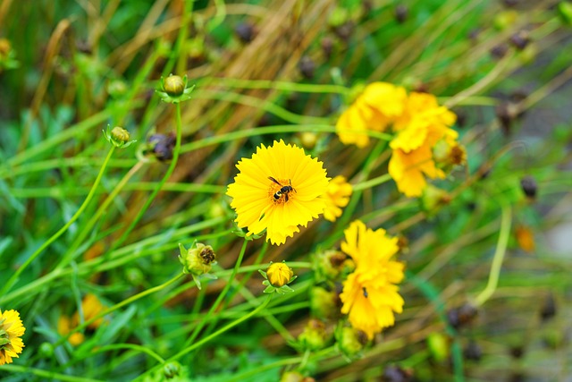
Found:
M 367 112 L 364 112 L 366 110 Z M 341 115 L 337 132 L 344 144 L 364 148 L 369 143 L 367 131 L 383 132 L 391 126 L 395 134 L 389 173 L 398 189 L 408 197 L 421 196 L 425 178 L 444 178 L 435 163 L 434 147 L 445 142 L 450 148 L 450 162 L 463 164 L 466 153 L 457 143 L 458 133 L 450 128 L 456 121 L 447 107 L 427 93 L 411 92 L 389 83 L 374 82 Z

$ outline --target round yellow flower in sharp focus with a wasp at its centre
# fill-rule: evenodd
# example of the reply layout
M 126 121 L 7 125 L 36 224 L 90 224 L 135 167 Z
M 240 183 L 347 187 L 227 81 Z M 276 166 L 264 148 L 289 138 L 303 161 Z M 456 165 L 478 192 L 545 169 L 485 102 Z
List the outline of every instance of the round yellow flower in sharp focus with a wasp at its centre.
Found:
M 266 230 L 266 240 L 283 244 L 299 232 L 299 225 L 324 212 L 321 198 L 328 188 L 322 162 L 307 156 L 304 149 L 282 140 L 261 145 L 251 158 L 242 158 L 226 194 L 236 210 L 236 222 L 247 227 L 247 235 Z

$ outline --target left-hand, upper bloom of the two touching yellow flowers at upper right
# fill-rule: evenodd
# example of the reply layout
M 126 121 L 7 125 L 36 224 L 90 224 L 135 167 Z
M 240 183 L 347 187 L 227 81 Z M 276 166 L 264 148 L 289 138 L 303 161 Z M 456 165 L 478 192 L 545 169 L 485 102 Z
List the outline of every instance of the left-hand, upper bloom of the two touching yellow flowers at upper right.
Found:
M 404 88 L 387 82 L 374 82 L 346 109 L 336 123 L 343 144 L 365 148 L 367 131 L 383 132 L 404 110 L 407 93 Z

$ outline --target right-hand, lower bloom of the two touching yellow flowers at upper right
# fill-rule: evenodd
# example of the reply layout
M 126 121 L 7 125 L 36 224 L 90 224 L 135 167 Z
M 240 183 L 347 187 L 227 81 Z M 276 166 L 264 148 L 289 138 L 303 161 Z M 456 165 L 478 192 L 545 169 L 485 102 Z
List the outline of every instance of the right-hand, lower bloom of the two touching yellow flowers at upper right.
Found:
M 397 136 L 391 140 L 393 149 L 389 173 L 398 189 L 408 197 L 420 196 L 426 186 L 425 176 L 444 178 L 445 173 L 435 166 L 433 148 L 444 141 L 456 145 L 458 133 L 450 129 L 456 115 L 439 106 L 431 94 L 412 92 L 403 114 L 393 123 Z

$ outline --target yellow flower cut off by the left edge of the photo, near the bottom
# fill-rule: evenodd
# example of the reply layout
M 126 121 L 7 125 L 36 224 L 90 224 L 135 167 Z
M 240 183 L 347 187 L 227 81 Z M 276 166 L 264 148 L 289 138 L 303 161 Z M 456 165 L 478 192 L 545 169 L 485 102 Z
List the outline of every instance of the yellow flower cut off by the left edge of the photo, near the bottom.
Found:
M 16 310 L 0 310 L 0 365 L 12 363 L 18 358 L 24 343 L 21 336 L 26 328 L 22 325 L 20 313 Z

